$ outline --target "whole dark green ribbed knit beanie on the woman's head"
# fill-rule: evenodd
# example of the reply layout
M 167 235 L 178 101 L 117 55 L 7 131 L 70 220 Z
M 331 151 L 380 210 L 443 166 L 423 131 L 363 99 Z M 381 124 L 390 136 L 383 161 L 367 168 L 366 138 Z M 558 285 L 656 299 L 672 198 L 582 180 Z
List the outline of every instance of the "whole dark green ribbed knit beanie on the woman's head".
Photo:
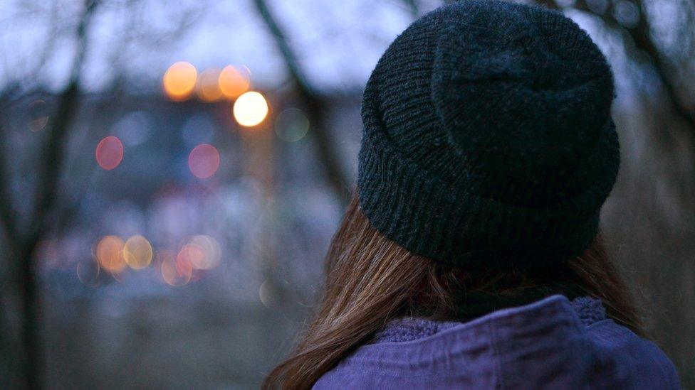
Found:
M 605 57 L 561 13 L 494 0 L 437 9 L 367 82 L 362 211 L 443 264 L 576 256 L 620 163 L 613 96 Z

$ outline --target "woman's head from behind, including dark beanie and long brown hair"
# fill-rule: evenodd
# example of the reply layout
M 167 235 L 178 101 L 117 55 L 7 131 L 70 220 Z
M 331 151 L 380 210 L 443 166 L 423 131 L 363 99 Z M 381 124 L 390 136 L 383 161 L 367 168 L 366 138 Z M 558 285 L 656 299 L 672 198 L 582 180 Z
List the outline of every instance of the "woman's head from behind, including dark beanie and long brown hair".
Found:
M 392 318 L 469 320 L 560 293 L 639 331 L 598 225 L 620 163 L 610 67 L 561 13 L 464 0 L 367 82 L 357 193 L 325 296 L 266 387 L 310 387 Z

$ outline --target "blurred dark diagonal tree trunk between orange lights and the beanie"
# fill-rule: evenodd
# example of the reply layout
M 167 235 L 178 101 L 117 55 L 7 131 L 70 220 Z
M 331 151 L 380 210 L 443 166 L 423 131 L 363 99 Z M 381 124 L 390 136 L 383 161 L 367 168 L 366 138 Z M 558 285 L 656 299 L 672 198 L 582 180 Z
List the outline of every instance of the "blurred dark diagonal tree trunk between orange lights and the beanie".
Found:
M 325 107 L 323 99 L 318 96 L 318 93 L 302 71 L 297 56 L 288 44 L 286 34 L 283 33 L 281 27 L 278 25 L 275 18 L 273 18 L 266 1 L 254 0 L 254 4 L 263 22 L 268 27 L 268 31 L 272 34 L 278 46 L 278 50 L 280 50 L 283 60 L 285 61 L 285 65 L 290 72 L 290 77 L 297 86 L 299 97 L 306 106 L 308 119 L 313 125 L 312 134 L 316 142 L 319 158 L 323 162 L 325 168 L 328 183 L 330 187 L 333 188 L 335 194 L 338 195 L 341 200 L 345 201 L 350 195 L 348 180 L 345 173 L 343 173 L 343 168 L 340 166 L 338 153 L 335 150 L 333 140 L 330 138 L 330 134 L 328 134 L 328 129 L 326 128 L 325 112 L 327 111 L 327 107 Z

